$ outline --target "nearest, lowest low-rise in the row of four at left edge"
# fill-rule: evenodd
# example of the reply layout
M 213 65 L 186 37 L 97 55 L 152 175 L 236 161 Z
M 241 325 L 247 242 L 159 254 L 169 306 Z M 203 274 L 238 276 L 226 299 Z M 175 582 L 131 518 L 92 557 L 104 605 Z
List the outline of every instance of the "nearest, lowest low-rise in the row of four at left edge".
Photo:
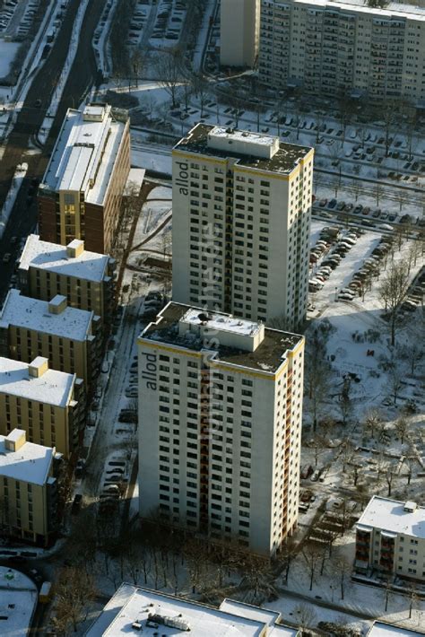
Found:
M 14 429 L 0 435 L 0 526 L 4 534 L 48 545 L 56 531 L 56 450 Z

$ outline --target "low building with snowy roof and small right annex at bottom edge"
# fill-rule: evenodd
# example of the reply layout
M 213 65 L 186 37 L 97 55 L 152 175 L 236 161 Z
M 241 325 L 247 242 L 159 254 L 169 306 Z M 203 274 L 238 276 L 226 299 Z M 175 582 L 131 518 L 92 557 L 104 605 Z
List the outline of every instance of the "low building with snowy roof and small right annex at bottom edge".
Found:
M 282 623 L 280 613 L 224 599 L 219 608 L 177 598 L 157 590 L 121 584 L 86 637 L 175 635 L 191 637 L 298 637 L 299 631 Z

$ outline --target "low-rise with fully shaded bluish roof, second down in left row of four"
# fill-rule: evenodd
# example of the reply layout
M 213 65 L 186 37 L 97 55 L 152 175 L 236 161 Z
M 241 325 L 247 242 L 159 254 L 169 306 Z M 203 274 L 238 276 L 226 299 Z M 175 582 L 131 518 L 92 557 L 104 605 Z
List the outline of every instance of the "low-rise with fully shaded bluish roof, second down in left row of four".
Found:
M 56 294 L 39 301 L 10 290 L 0 310 L 0 355 L 31 362 L 44 356 L 53 370 L 76 374 L 90 386 L 100 367 L 100 318 L 67 305 Z

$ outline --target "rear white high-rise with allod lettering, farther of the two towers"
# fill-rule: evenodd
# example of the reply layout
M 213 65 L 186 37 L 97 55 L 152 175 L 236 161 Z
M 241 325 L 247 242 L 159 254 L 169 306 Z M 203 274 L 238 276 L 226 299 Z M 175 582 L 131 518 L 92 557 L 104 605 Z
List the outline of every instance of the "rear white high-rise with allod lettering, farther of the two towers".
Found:
M 198 124 L 173 149 L 173 300 L 298 329 L 312 148 Z

